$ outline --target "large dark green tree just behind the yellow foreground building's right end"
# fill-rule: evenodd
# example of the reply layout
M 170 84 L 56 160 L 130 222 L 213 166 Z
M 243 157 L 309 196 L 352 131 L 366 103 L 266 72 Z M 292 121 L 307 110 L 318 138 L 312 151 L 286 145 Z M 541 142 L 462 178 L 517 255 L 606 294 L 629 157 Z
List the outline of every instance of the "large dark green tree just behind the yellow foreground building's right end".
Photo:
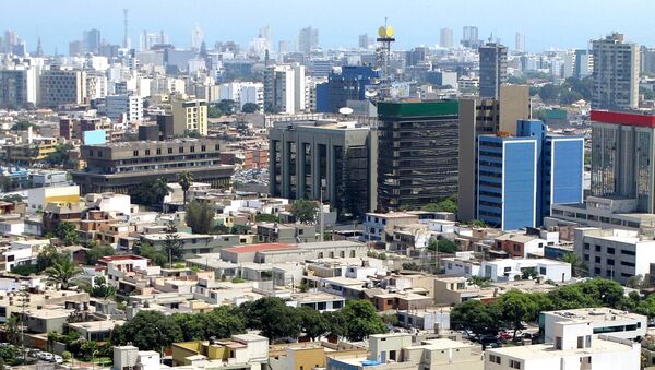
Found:
M 257 329 L 271 342 L 296 338 L 300 334 L 300 318 L 293 307 L 277 297 L 264 297 L 241 305 L 248 327 Z

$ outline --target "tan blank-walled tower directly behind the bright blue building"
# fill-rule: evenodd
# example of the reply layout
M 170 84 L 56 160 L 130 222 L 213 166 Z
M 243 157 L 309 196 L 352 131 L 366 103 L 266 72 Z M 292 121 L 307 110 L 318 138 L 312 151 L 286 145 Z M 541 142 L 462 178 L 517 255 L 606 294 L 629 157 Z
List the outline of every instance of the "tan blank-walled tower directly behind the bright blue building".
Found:
M 477 217 L 477 141 L 483 134 L 516 134 L 516 121 L 528 119 L 529 89 L 526 85 L 502 85 L 500 98 L 460 99 L 460 164 L 457 216 Z

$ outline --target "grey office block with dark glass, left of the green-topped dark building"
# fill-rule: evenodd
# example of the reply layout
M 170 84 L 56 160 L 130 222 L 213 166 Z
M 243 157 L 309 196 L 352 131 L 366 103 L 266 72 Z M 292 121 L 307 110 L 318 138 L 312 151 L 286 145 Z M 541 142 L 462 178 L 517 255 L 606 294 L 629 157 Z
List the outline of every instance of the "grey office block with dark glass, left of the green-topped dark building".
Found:
M 357 122 L 276 122 L 269 138 L 270 191 L 289 199 L 321 198 L 340 217 L 376 207 L 377 150 Z

